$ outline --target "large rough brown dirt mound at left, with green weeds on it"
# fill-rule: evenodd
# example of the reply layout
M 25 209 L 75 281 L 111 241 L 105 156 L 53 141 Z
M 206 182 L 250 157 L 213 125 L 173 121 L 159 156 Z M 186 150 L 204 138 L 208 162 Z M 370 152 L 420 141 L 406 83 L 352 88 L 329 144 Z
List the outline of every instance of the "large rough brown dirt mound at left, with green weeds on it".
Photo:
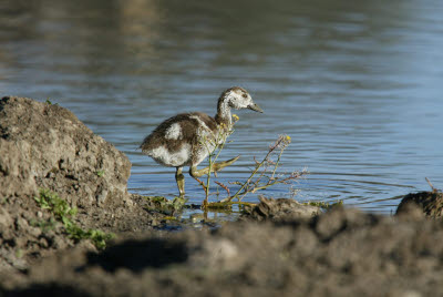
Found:
M 33 259 L 76 243 L 38 205 L 39 188 L 76 206 L 73 219 L 80 227 L 146 229 L 151 217 L 126 190 L 130 171 L 127 157 L 70 111 L 31 99 L 1 99 L 0 270 L 24 270 Z

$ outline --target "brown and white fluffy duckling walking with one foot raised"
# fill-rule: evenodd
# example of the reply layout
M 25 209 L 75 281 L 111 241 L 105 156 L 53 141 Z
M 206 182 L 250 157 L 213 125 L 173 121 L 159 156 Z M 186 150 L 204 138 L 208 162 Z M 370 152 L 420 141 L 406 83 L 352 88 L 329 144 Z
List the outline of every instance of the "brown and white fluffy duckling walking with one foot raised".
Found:
M 197 170 L 198 164 L 210 152 L 207 145 L 202 144 L 202 139 L 217 139 L 216 135 L 222 133 L 223 129 L 231 126 L 230 109 L 249 109 L 262 113 L 245 89 L 234 86 L 219 96 L 217 114 L 214 117 L 202 112 L 177 114 L 161 123 L 141 144 L 142 152 L 158 164 L 176 167 L 175 180 L 181 196 L 185 195 L 184 166 L 189 166 L 189 175 L 194 178 L 209 173 L 209 167 Z M 213 164 L 210 172 L 220 171 L 238 157 Z

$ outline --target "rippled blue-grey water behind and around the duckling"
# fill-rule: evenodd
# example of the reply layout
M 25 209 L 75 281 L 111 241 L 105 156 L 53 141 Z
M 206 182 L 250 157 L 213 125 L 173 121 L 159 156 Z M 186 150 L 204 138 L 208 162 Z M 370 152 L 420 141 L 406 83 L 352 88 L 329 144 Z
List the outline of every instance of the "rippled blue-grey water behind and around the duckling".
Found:
M 72 110 L 127 154 L 141 194 L 177 193 L 143 137 L 178 112 L 213 115 L 231 85 L 265 113 L 238 112 L 223 183 L 288 134 L 281 172 L 310 172 L 301 201 L 390 213 L 424 177 L 443 187 L 442 1 L 213 2 L 0 0 L 0 94 Z M 203 199 L 188 176 L 186 191 Z

